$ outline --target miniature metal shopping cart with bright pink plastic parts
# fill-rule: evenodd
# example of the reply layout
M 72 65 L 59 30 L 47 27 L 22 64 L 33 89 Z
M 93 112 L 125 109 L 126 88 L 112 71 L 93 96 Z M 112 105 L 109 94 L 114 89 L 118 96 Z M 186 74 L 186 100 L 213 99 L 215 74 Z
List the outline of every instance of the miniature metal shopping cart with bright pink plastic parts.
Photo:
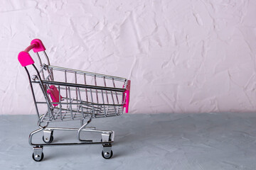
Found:
M 38 67 L 28 54 L 30 50 L 36 52 Z M 36 162 L 43 159 L 43 147 L 94 144 L 102 145 L 102 157 L 110 159 L 113 155 L 114 131 L 96 130 L 95 127 L 87 125 L 92 118 L 122 115 L 124 109 L 128 112 L 130 81 L 120 77 L 52 66 L 45 50 L 41 40 L 35 39 L 26 50 L 18 54 L 18 61 L 28 74 L 38 115 L 39 129 L 31 132 L 28 138 L 29 144 L 33 146 L 33 159 Z M 41 57 L 42 55 L 45 57 Z M 36 89 L 43 92 L 41 98 L 38 98 Z M 58 122 L 61 124 L 73 120 L 80 121 L 79 128 L 60 128 L 56 125 Z M 54 130 L 76 131 L 79 141 L 53 142 Z M 33 143 L 33 135 L 38 132 L 43 132 L 43 142 Z M 82 132 L 100 133 L 100 140 L 83 139 Z

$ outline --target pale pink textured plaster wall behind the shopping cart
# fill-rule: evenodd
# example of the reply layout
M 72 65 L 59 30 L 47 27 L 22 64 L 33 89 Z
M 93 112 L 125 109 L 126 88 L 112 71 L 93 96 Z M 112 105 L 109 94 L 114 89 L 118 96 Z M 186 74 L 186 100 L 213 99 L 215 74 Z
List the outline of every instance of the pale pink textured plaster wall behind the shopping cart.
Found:
M 131 113 L 255 111 L 255 16 L 255 1 L 1 1 L 0 113 L 35 111 L 17 60 L 33 38 L 54 65 L 132 79 Z

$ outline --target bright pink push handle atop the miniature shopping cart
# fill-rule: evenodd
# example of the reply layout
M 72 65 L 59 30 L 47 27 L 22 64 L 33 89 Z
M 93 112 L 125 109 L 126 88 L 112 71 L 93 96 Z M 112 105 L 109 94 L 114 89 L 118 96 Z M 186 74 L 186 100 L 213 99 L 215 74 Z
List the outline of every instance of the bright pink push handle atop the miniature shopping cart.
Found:
M 31 45 L 26 47 L 24 51 L 18 54 L 18 62 L 21 63 L 22 67 L 35 63 L 31 55 L 28 54 L 28 52 L 32 49 L 33 49 L 33 52 L 41 52 L 46 50 L 46 47 L 44 47 L 43 42 L 41 40 L 39 39 L 32 40 Z

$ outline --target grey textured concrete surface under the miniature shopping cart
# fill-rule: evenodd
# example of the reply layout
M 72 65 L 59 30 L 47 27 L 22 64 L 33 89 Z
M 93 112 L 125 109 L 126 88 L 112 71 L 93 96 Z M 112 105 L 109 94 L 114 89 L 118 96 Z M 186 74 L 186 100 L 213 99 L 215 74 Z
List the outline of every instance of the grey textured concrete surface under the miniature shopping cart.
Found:
M 101 145 L 79 145 L 44 147 L 34 162 L 28 135 L 36 116 L 0 115 L 1 169 L 256 169 L 256 113 L 124 114 L 91 125 L 114 130 L 112 159 L 102 158 Z M 55 132 L 53 142 L 75 137 Z

